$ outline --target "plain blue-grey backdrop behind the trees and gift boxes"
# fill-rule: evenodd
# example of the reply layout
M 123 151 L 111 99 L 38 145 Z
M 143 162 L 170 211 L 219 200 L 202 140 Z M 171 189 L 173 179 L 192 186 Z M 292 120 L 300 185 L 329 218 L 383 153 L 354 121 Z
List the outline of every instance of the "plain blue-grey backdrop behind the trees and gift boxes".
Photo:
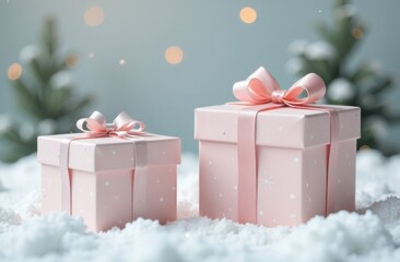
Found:
M 289 45 L 298 38 L 316 40 L 313 26 L 319 20 L 331 20 L 332 3 L 0 0 L 0 114 L 16 115 L 8 68 L 19 61 L 24 46 L 39 41 L 44 17 L 55 15 L 62 49 L 80 55 L 73 69 L 77 91 L 95 94 L 87 112 L 101 110 L 110 121 L 126 110 L 143 120 L 149 131 L 178 135 L 184 151 L 196 152 L 193 109 L 233 100 L 232 84 L 261 64 L 282 87 L 289 87 L 296 80 L 285 68 L 292 57 Z M 398 82 L 400 1 L 356 0 L 354 4 L 368 32 L 352 64 L 377 58 Z M 105 12 L 104 23 L 97 27 L 83 21 L 93 5 Z M 256 9 L 255 23 L 240 21 L 244 7 Z M 175 45 L 184 50 L 184 60 L 173 66 L 164 52 Z M 126 64 L 119 64 L 120 59 Z

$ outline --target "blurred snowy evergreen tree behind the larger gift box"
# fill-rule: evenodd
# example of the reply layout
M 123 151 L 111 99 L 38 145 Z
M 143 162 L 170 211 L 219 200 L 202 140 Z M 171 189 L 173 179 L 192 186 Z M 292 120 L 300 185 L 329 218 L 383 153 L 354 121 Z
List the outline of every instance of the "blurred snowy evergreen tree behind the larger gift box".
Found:
M 386 155 L 398 153 L 392 144 L 385 143 L 389 126 L 400 122 L 399 112 L 387 102 L 393 80 L 381 72 L 376 61 L 349 64 L 351 55 L 364 38 L 366 26 L 356 16 L 349 0 L 336 0 L 333 23 L 317 24 L 321 40 L 294 41 L 290 50 L 295 55 L 287 67 L 298 75 L 319 74 L 327 84 L 323 103 L 358 106 L 362 108 L 362 138 L 360 147 L 377 148 Z M 386 98 L 385 98 L 386 97 Z

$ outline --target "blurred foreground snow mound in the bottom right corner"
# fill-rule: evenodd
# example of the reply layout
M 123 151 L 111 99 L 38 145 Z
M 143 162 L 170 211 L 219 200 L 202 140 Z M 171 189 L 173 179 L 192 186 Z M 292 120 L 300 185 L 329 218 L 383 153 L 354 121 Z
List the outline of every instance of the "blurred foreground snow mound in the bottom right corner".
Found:
M 289 259 L 299 261 L 346 261 L 349 257 L 361 259 L 374 251 L 396 248 L 391 235 L 372 212 L 316 217 L 277 245 Z

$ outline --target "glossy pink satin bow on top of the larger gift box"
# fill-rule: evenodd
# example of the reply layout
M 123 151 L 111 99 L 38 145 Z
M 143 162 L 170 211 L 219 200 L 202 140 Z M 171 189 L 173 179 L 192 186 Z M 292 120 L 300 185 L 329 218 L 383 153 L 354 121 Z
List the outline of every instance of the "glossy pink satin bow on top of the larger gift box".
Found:
M 305 97 L 299 97 L 303 92 L 305 92 Z M 316 73 L 303 76 L 287 91 L 281 90 L 277 80 L 263 67 L 233 86 L 235 97 L 250 105 L 272 102 L 287 106 L 301 106 L 319 100 L 323 97 L 325 92 L 323 80 Z

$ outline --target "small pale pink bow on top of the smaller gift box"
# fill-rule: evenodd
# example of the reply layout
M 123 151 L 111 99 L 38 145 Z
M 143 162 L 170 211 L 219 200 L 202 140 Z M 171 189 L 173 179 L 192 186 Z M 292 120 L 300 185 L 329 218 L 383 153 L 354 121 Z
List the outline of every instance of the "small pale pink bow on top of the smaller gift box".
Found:
M 103 114 L 94 111 L 89 118 L 78 120 L 77 128 L 93 136 L 128 136 L 142 133 L 145 124 L 132 119 L 125 111 L 113 123 L 107 123 Z

